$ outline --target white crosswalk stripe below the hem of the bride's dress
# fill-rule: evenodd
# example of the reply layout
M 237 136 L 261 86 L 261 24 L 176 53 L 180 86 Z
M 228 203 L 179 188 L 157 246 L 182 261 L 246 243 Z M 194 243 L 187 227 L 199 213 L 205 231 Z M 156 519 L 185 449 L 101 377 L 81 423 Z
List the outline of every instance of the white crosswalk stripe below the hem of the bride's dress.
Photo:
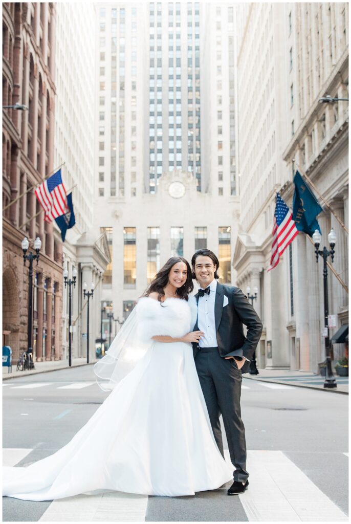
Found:
M 148 496 L 120 492 L 54 500 L 39 521 L 144 522 Z

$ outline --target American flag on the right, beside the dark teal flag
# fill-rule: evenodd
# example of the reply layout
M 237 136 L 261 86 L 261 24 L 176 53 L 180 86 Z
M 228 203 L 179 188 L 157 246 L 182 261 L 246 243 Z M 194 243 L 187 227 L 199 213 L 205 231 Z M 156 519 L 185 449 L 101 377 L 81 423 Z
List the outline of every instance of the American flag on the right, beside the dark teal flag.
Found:
M 283 201 L 280 194 L 277 193 L 276 211 L 274 213 L 272 231 L 272 256 L 268 271 L 278 266 L 279 257 L 281 257 L 285 248 L 288 247 L 298 233 L 295 222 L 292 220 L 290 209 Z

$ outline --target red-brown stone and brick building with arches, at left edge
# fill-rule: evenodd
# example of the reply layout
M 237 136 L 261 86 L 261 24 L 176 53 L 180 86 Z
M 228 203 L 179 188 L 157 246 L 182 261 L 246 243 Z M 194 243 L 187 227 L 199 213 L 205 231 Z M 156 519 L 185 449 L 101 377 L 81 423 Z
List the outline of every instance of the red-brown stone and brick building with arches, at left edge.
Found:
M 42 242 L 39 264 L 33 266 L 34 361 L 61 358 L 62 244 L 53 225 L 44 222 L 34 194 L 57 167 L 54 38 L 54 3 L 3 3 L 3 106 L 28 107 L 3 110 L 3 331 L 14 361 L 28 345 L 28 263 L 24 267 L 21 249 L 25 236 L 29 250 L 37 236 Z

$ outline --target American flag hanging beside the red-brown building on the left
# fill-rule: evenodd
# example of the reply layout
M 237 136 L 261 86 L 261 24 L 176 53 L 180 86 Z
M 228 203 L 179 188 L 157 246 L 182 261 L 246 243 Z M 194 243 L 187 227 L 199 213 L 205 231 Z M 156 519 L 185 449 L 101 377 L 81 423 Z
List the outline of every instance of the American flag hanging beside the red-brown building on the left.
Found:
M 67 205 L 66 190 L 61 177 L 61 169 L 44 180 L 35 190 L 35 194 L 42 209 L 45 211 L 44 220 L 52 222 L 58 216 L 69 211 Z

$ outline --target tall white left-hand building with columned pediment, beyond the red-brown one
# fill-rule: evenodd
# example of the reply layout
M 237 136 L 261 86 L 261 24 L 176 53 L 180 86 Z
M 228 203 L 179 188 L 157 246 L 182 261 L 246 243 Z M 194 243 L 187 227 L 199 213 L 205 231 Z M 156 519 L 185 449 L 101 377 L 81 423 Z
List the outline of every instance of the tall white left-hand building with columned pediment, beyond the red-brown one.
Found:
M 62 244 L 62 271 L 78 271 L 72 287 L 71 351 L 86 355 L 87 307 L 83 294 L 91 283 L 89 350 L 94 357 L 95 339 L 100 336 L 100 294 L 102 274 L 109 261 L 107 240 L 92 234 L 94 188 L 94 74 L 95 7 L 87 3 L 56 5 L 56 111 L 54 165 L 62 166 L 65 187 L 72 191 L 75 225 Z M 59 230 L 55 224 L 58 234 Z M 99 238 L 100 237 L 100 238 Z M 98 242 L 96 242 L 98 241 Z M 63 287 L 62 358 L 68 357 L 69 289 Z

